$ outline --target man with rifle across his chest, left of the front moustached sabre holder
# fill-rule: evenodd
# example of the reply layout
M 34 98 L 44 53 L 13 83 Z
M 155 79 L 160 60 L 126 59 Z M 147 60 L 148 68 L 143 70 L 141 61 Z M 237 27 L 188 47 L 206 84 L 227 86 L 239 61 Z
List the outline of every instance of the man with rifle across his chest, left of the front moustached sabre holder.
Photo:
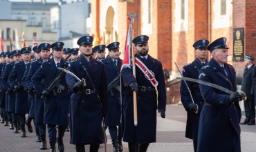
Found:
M 44 124 L 48 124 L 51 151 L 55 151 L 56 125 L 59 126 L 57 137 L 58 149 L 59 151 L 64 151 L 63 136 L 66 125 L 68 125 L 69 93 L 65 77 L 62 77 L 60 82 L 64 89 L 55 86 L 53 91 L 55 91 L 56 95 L 54 95 L 53 91 L 48 91 L 42 86 L 41 79 L 44 78 L 45 83 L 50 85 L 60 73 L 57 68 L 67 68 L 68 64 L 62 59 L 63 46 L 63 42 L 52 44 L 53 58 L 44 62 L 32 77 L 33 86 L 35 86 L 38 94 L 48 98 L 47 101 L 44 101 Z

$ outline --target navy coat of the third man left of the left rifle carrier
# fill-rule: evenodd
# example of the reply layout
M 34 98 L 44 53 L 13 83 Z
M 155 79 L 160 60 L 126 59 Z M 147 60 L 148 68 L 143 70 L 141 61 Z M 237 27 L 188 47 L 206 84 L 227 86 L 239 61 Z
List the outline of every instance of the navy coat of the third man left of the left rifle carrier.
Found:
M 8 82 L 11 88 L 14 88 L 14 86 L 18 83 L 21 83 L 21 79 L 24 75 L 25 69 L 26 64 L 24 61 L 19 61 L 15 63 L 15 66 L 13 66 L 12 72 L 8 77 Z M 17 79 L 17 82 L 15 82 L 15 79 Z M 16 91 L 15 113 L 28 113 L 28 93 L 24 90 L 24 88 Z

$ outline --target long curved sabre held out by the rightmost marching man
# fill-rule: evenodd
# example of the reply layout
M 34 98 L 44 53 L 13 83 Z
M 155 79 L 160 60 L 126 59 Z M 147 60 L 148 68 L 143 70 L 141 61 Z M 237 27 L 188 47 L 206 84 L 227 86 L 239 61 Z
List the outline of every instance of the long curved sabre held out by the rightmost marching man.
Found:
M 230 91 L 228 88 L 224 88 L 222 86 L 218 86 L 217 84 L 212 84 L 210 82 L 205 82 L 205 81 L 202 81 L 200 79 L 192 79 L 192 78 L 189 78 L 189 77 L 176 77 L 176 79 L 183 79 L 184 81 L 189 81 L 189 82 L 196 82 L 196 83 L 199 83 L 199 84 L 204 84 L 205 86 L 211 86 L 212 88 L 217 88 L 219 89 L 220 91 L 223 91 L 225 93 L 228 93 L 228 94 L 232 94 L 234 93 L 233 91 Z M 237 91 L 240 95 L 243 95 L 243 97 L 241 97 L 241 99 L 244 99 L 244 101 L 247 100 L 247 97 L 246 97 L 246 93 L 244 93 L 244 91 Z

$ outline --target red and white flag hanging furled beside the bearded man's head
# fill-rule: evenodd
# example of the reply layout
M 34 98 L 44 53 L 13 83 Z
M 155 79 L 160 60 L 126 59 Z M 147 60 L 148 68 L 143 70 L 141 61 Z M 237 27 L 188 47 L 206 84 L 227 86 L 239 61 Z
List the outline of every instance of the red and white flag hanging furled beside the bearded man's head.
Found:
M 128 26 L 128 30 L 127 30 L 127 36 L 126 36 L 126 40 L 125 40 L 125 48 L 123 50 L 123 61 L 122 61 L 122 66 L 121 66 L 121 70 L 124 67 L 128 67 L 131 68 L 131 19 L 129 19 L 129 26 Z

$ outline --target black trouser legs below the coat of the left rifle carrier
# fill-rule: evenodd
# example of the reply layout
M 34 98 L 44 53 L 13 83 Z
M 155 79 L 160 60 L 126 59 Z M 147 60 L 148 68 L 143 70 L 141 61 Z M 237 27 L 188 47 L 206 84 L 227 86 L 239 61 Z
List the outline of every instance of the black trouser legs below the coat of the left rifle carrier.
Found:
M 47 128 L 48 128 L 50 142 L 56 142 L 56 134 L 57 134 L 56 125 L 48 124 Z M 62 138 L 64 136 L 65 130 L 66 130 L 66 125 L 60 125 L 58 129 L 58 137 Z

